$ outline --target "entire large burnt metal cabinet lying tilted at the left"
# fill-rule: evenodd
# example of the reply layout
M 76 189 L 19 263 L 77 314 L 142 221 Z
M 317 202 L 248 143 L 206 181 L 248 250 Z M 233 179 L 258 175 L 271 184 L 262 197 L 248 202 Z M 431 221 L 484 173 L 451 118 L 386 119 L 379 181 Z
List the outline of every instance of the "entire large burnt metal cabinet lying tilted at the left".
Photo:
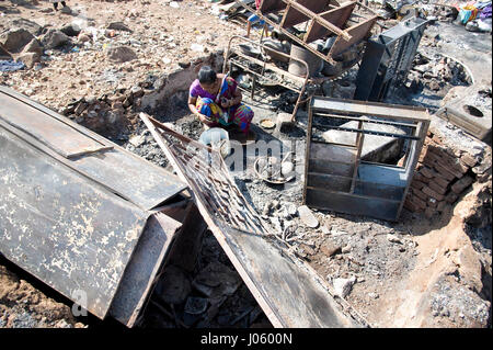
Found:
M 4 87 L 0 150 L 0 252 L 133 326 L 180 228 L 149 210 L 186 184 Z

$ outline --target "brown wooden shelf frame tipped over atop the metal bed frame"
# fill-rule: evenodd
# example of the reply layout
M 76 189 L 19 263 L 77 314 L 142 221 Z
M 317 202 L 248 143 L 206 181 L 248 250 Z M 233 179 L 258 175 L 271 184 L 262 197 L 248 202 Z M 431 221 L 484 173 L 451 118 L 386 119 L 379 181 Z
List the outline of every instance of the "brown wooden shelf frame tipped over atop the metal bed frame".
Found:
M 344 3 L 342 7 L 333 7 L 328 11 L 325 10 L 330 8 L 330 0 L 263 0 L 259 10 L 239 0 L 234 1 L 250 12 L 257 14 L 263 21 L 285 34 L 294 43 L 330 64 L 335 64 L 335 56 L 343 54 L 352 46 L 366 39 L 378 19 L 378 15 L 372 15 L 368 19 L 363 15 L 352 18 L 355 5 L 362 5 L 358 1 Z M 266 15 L 277 11 L 284 11 L 280 23 L 274 22 Z M 363 20 L 358 22 L 360 19 Z M 349 25 L 349 20 L 355 23 Z M 308 23 L 308 31 L 303 38 L 288 31 L 289 27 L 303 22 Z M 308 45 L 318 38 L 329 35 L 336 35 L 336 39 L 326 55 Z

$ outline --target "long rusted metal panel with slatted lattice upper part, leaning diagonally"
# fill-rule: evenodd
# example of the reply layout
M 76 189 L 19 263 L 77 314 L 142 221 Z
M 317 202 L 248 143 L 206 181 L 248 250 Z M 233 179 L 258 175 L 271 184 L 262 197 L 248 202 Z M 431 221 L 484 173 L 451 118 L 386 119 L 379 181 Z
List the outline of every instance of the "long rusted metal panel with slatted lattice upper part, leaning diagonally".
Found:
M 144 113 L 140 118 L 177 174 L 188 183 L 209 229 L 275 327 L 365 325 L 362 318 L 342 311 L 342 301 L 331 295 L 326 283 L 307 263 L 278 245 L 217 151 Z

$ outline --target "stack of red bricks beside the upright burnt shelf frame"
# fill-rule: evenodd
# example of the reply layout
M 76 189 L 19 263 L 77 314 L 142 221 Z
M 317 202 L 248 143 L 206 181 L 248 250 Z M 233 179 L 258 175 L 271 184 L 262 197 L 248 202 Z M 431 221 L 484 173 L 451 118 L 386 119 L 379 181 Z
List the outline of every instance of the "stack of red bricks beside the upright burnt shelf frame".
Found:
M 424 212 L 427 217 L 443 212 L 474 182 L 470 169 L 477 162 L 467 153 L 444 147 L 436 135 L 428 133 L 404 206 L 411 212 Z

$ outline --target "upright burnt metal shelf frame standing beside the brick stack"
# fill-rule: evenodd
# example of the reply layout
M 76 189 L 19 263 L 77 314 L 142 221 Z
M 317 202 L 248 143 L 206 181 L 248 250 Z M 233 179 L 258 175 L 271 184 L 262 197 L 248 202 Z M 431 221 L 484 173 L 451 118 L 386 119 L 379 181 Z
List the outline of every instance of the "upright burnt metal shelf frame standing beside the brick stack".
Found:
M 362 118 L 366 116 L 366 118 Z M 334 126 L 335 120 L 358 127 Z M 405 135 L 365 129 L 369 123 L 398 126 Z M 429 125 L 425 109 L 312 98 L 309 108 L 303 203 L 311 207 L 398 221 Z M 349 133 L 353 144 L 318 140 L 319 132 Z M 316 135 L 317 134 L 317 135 Z M 402 167 L 363 161 L 365 135 L 408 142 Z

